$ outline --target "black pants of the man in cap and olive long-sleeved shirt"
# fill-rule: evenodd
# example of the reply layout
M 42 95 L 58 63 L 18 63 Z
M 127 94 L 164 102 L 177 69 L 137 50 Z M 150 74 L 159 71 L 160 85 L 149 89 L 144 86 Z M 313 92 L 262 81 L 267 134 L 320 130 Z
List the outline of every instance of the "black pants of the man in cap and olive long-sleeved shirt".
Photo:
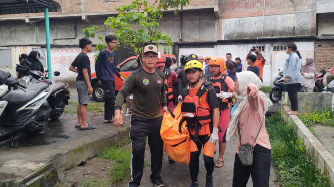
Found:
M 139 185 L 143 176 L 144 153 L 146 137 L 148 137 L 151 152 L 151 171 L 150 179 L 155 181 L 161 179 L 161 165 L 164 144 L 160 137 L 160 127 L 162 116 L 156 119 L 144 119 L 131 116 L 130 138 L 132 140 L 131 157 L 131 180 L 129 186 Z

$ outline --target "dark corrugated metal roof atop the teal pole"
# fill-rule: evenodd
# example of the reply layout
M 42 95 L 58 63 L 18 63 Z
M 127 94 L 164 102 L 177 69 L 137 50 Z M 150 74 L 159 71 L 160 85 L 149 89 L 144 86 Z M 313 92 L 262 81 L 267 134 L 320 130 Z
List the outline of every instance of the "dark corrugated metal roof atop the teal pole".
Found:
M 40 13 L 48 7 L 49 12 L 61 12 L 61 6 L 53 0 L 0 0 L 0 15 Z

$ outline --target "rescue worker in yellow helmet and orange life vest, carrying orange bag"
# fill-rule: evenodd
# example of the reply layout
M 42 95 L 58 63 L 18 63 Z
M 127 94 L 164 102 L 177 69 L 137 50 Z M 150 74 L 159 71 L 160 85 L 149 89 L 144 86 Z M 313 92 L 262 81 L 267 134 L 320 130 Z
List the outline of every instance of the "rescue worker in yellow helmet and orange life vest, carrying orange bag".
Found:
M 199 155 L 203 147 L 203 159 L 206 168 L 206 186 L 213 186 L 215 143 L 218 141 L 219 103 L 215 89 L 210 82 L 204 82 L 203 65 L 197 60 L 190 60 L 184 67 L 190 83 L 185 87 L 182 102 L 182 116 L 190 130 L 190 187 L 197 187 Z

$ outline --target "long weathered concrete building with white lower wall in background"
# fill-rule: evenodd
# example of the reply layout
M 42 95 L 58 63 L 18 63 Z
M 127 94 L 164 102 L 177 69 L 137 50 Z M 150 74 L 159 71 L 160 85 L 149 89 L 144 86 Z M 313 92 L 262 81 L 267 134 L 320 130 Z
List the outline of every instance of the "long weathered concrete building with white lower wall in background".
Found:
M 62 74 L 58 79 L 74 79 L 68 66 L 79 53 L 82 30 L 92 24 L 104 28 L 102 35 L 112 34 L 103 23 L 116 16 L 115 7 L 131 0 L 58 0 L 62 12 L 50 13 L 52 70 Z M 81 4 L 77 4 L 77 2 Z M 149 2 L 153 2 L 150 0 Z M 334 2 L 331 0 L 191 0 L 182 13 L 165 13 L 160 31 L 172 37 L 174 46 L 159 46 L 165 53 L 195 53 L 221 56 L 232 53 L 240 57 L 246 69 L 246 55 L 256 45 L 267 63 L 264 83 L 270 85 L 278 69 L 283 69 L 285 46 L 295 42 L 305 57 L 315 58 L 318 69 L 334 63 Z M 15 71 L 19 55 L 38 49 L 45 63 L 45 26 L 43 15 L 0 15 L 0 66 Z M 99 42 L 92 39 L 93 44 Z M 94 68 L 94 52 L 90 54 Z M 117 62 L 131 56 L 117 51 Z M 321 67 L 321 68 L 320 68 Z

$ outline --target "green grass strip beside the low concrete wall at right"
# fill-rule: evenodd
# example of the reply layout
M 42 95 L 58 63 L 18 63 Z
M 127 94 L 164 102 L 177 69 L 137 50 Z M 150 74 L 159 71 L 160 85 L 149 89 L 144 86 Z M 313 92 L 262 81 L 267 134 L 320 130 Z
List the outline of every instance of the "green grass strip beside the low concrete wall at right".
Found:
M 321 174 L 307 156 L 292 125 L 284 123 L 280 115 L 273 115 L 266 119 L 266 127 L 280 186 L 331 186 L 328 177 Z

